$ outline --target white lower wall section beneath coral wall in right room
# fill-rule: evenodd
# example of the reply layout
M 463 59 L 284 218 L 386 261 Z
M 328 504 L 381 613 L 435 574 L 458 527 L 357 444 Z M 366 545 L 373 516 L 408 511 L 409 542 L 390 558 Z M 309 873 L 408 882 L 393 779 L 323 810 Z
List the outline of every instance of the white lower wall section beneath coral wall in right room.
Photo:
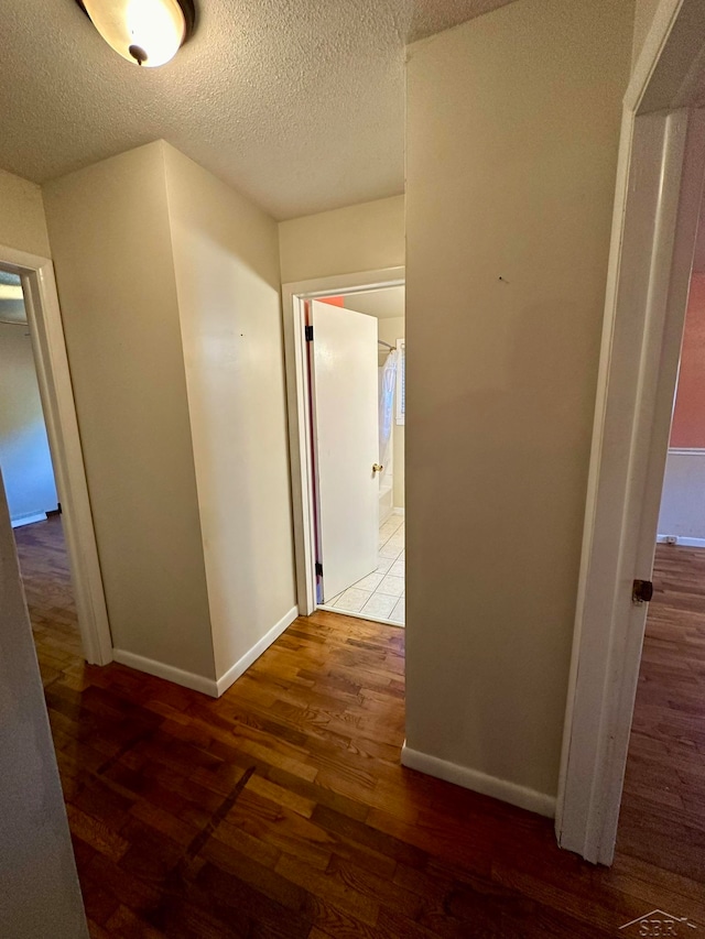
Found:
M 695 538 L 705 547 L 705 450 L 669 450 L 659 536 Z

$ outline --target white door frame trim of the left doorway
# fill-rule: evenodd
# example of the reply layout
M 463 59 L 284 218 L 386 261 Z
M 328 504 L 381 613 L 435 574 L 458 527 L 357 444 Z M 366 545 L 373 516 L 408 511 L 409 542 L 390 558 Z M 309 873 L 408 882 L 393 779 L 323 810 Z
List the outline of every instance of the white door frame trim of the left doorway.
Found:
M 0 245 L 0 264 L 22 281 L 84 655 L 91 665 L 107 665 L 112 638 L 54 265 L 48 258 L 6 245 Z

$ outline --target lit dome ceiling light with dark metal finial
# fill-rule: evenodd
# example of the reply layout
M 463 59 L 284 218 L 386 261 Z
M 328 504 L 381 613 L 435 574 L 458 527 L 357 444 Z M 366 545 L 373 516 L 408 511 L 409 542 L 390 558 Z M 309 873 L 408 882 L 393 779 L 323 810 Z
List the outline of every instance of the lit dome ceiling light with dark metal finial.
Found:
M 193 33 L 193 0 L 76 0 L 122 58 L 155 67 L 172 59 Z

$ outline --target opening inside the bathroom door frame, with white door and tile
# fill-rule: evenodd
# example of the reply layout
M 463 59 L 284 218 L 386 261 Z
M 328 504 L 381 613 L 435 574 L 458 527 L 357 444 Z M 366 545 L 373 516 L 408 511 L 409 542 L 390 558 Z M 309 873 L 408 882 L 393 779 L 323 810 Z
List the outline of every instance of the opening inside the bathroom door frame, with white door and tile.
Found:
M 404 288 L 305 303 L 319 609 L 404 625 Z

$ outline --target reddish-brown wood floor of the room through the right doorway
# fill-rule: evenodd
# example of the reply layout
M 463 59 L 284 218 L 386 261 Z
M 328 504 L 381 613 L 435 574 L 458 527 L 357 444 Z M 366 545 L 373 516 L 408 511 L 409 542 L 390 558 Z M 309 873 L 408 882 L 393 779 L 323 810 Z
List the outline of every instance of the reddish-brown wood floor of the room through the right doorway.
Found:
M 617 847 L 705 881 L 705 550 L 658 545 Z

